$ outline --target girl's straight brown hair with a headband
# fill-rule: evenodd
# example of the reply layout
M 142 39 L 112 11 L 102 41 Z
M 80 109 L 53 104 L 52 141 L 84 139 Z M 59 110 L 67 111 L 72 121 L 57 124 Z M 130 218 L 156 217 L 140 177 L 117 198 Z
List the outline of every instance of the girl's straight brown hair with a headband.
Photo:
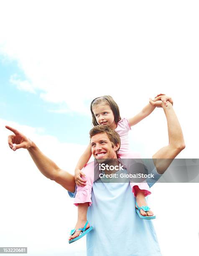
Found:
M 117 106 L 117 103 L 115 102 L 115 100 L 113 100 L 113 98 L 111 96 L 104 95 L 104 96 L 95 98 L 91 102 L 90 110 L 92 113 L 92 124 L 94 126 L 99 125 L 97 123 L 97 120 L 95 118 L 95 115 L 94 115 L 92 109 L 93 109 L 93 107 L 97 106 L 99 103 L 102 103 L 102 102 L 110 106 L 112 113 L 114 115 L 115 123 L 119 122 L 121 120 L 121 117 L 120 117 L 120 110 L 119 110 L 119 107 Z

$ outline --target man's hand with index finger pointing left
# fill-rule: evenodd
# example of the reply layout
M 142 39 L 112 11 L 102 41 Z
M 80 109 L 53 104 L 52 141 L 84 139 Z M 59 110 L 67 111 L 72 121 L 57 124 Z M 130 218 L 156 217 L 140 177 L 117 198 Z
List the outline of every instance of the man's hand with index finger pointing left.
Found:
M 32 145 L 32 141 L 24 136 L 22 133 L 17 131 L 16 129 L 6 125 L 5 128 L 12 131 L 14 134 L 8 136 L 8 145 L 9 147 L 15 151 L 18 148 L 30 148 Z

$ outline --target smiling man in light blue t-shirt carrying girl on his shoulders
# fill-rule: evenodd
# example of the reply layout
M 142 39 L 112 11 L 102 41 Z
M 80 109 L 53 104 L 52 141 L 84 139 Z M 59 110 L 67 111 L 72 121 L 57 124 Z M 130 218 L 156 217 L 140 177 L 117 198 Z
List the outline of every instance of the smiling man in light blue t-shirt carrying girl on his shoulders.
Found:
M 168 124 L 169 144 L 153 155 L 154 166 L 152 168 L 150 166 L 151 172 L 160 175 L 185 146 L 181 127 L 171 103 L 167 102 L 167 106 L 162 101 L 151 103 L 163 108 Z M 8 137 L 11 149 L 15 151 L 18 148 L 27 148 L 43 175 L 61 184 L 68 191 L 75 192 L 73 175 L 61 170 L 26 136 L 11 127 L 6 126 L 6 128 L 14 133 Z M 17 145 L 14 146 L 14 143 Z M 117 159 L 116 151 L 120 145 L 113 143 L 105 132 L 91 134 L 91 146 L 95 158 L 99 155 L 102 158 Z M 104 152 L 102 156 L 96 154 L 96 152 L 102 152 L 102 149 Z M 161 159 L 165 160 L 161 161 Z M 89 207 L 87 218 L 94 226 L 94 230 L 87 234 L 87 254 L 92 256 L 161 255 L 152 222 L 140 219 L 135 212 L 135 199 L 129 184 L 102 181 L 98 179 L 93 184 L 92 205 Z

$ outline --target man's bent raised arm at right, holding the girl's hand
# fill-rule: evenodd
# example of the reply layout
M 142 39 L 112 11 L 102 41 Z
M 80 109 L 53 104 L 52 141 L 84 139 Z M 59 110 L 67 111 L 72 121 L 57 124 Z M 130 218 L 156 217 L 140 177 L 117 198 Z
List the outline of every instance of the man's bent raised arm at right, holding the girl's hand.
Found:
M 167 120 L 168 146 L 161 148 L 153 155 L 153 162 L 157 172 L 163 174 L 173 159 L 185 148 L 185 143 L 180 123 L 171 103 L 167 101 L 167 106 L 163 102 L 150 101 L 150 103 L 154 106 L 162 107 Z

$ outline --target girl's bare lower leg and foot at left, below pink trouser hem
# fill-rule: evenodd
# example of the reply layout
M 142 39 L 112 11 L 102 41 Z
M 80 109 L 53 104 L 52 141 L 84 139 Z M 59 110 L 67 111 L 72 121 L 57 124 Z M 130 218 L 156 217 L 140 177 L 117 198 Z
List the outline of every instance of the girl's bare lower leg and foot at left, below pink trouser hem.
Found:
M 89 203 L 86 202 L 84 204 L 78 204 L 78 217 L 77 217 L 77 223 L 75 225 L 75 229 L 77 228 L 84 228 L 85 223 L 87 222 L 87 210 L 89 207 Z M 89 223 L 87 224 L 86 229 L 89 228 Z M 76 238 L 81 233 L 81 230 L 75 231 L 75 233 L 72 236 L 69 236 L 69 240 Z

